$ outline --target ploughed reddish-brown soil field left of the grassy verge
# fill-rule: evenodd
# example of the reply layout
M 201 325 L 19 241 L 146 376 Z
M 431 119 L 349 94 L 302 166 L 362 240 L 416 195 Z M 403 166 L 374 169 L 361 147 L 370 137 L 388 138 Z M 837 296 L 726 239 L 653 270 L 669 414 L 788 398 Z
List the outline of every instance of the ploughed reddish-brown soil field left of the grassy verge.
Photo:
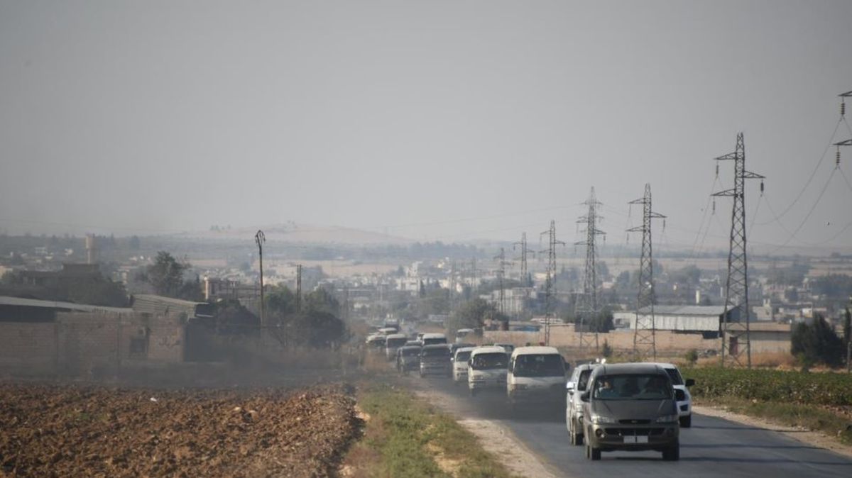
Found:
M 328 476 L 352 390 L 0 384 L 0 476 Z

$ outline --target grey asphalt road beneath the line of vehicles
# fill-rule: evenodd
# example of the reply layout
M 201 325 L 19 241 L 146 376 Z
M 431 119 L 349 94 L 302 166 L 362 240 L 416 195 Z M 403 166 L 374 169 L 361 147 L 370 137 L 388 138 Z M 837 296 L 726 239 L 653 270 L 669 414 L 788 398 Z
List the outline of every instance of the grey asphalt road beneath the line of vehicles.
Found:
M 852 476 L 852 459 L 811 447 L 778 432 L 737 424 L 722 418 L 694 415 L 693 426 L 681 430 L 681 460 L 664 462 L 659 452 L 604 452 L 591 462 L 584 447 L 568 443 L 564 410 L 512 416 L 498 394 L 471 398 L 463 386 L 441 378 L 414 379 L 431 390 L 450 395 L 461 418 L 498 421 L 538 454 L 557 476 Z

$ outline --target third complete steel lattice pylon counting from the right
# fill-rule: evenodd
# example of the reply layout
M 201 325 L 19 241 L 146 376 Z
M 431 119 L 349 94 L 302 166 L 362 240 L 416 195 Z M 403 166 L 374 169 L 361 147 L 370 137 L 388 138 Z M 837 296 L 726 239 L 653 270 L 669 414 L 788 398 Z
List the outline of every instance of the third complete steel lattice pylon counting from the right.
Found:
M 598 202 L 595 197 L 595 188 L 591 188 L 589 199 L 583 202 L 589 207 L 589 211 L 580 216 L 577 222 L 585 225 L 584 232 L 586 235 L 585 241 L 577 242 L 578 246 L 585 246 L 586 261 L 585 271 L 583 274 L 583 293 L 579 300 L 574 304 L 574 311 L 580 319 L 580 348 L 586 349 L 591 346 L 591 341 L 588 334 L 585 333 L 585 324 L 594 320 L 599 312 L 597 304 L 597 248 L 595 245 L 596 237 L 606 234 L 604 231 L 597 229 L 597 220 L 602 219 L 597 213 Z M 595 349 L 598 348 L 597 328 L 595 329 Z

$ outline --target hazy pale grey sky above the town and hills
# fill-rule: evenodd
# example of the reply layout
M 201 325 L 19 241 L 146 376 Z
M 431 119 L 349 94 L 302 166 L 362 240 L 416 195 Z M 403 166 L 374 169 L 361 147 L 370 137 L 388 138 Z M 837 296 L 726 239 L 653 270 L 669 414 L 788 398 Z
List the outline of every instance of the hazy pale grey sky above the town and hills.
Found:
M 752 243 L 849 246 L 849 90 L 849 0 L 0 0 L 0 230 L 573 242 L 594 185 L 624 243 L 649 182 L 688 247 L 728 234 L 743 131 Z

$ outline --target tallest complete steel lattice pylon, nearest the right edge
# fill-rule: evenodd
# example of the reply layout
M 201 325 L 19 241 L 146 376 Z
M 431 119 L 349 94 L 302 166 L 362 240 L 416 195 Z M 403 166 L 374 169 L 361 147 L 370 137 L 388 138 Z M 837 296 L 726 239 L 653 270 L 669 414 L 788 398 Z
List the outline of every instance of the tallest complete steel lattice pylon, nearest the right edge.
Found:
M 728 281 L 725 286 L 725 309 L 722 316 L 722 367 L 726 358 L 751 368 L 751 340 L 749 338 L 748 268 L 746 261 L 746 179 L 761 179 L 760 174 L 746 171 L 746 142 L 737 134 L 736 150 L 716 161 L 734 162 L 734 189 L 713 193 L 713 196 L 734 197 L 731 213 L 730 249 L 728 252 Z

